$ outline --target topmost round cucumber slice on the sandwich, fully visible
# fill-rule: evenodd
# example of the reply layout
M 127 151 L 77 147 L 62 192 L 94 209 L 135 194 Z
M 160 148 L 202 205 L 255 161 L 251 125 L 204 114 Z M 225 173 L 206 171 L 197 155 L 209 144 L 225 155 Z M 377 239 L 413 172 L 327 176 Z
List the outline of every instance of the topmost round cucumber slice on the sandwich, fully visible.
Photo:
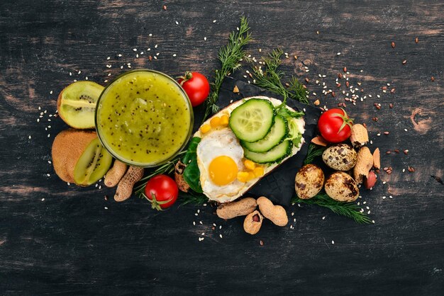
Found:
M 274 123 L 270 101 L 251 98 L 231 112 L 229 125 L 239 140 L 256 142 L 263 139 Z

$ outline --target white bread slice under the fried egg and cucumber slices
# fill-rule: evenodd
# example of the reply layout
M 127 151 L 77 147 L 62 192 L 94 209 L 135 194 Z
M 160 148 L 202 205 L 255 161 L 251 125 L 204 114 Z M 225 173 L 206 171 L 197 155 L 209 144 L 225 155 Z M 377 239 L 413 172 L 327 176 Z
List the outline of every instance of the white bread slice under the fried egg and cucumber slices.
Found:
M 242 103 L 244 103 L 245 101 L 250 100 L 250 98 L 262 98 L 262 99 L 266 99 L 268 101 L 270 101 L 273 106 L 279 106 L 282 104 L 282 101 L 278 100 L 277 98 L 269 98 L 267 96 L 252 96 L 249 98 L 243 98 L 240 99 L 239 101 L 235 101 L 234 103 L 231 103 L 231 105 L 227 106 L 226 108 L 223 108 L 221 111 L 219 111 L 218 113 L 216 113 L 215 115 L 213 115 L 211 118 L 213 117 L 221 117 L 222 115 L 230 115 L 231 112 L 237 108 L 238 106 L 240 106 Z M 289 110 L 295 111 L 294 109 L 290 108 L 289 106 L 287 106 L 287 108 Z M 209 124 L 211 118 L 208 118 L 202 125 L 204 124 Z M 302 133 L 302 135 L 304 135 L 305 132 L 305 121 L 304 118 L 293 118 L 292 120 L 295 121 L 295 123 L 297 124 L 299 131 Z M 200 130 L 198 130 L 197 132 L 194 133 L 194 137 L 202 137 L 202 134 L 200 132 Z M 292 154 L 290 154 L 289 156 L 287 156 L 286 158 L 284 158 L 280 164 L 282 164 L 282 162 L 287 161 L 287 159 L 289 159 L 290 157 L 294 156 L 297 152 L 299 152 L 299 150 L 302 147 L 302 144 L 304 144 L 305 140 L 304 137 L 302 137 L 301 139 L 301 143 L 299 144 L 298 147 L 293 146 L 292 148 Z M 279 166 L 279 164 L 268 164 L 264 166 L 264 176 L 266 176 L 268 173 L 271 173 L 275 168 L 277 168 L 277 166 Z M 263 177 L 263 176 L 262 176 Z M 209 198 L 209 200 L 214 200 L 218 203 L 228 203 L 231 202 L 237 198 L 240 198 L 240 196 L 242 196 L 245 192 L 247 192 L 252 186 L 255 185 L 255 183 L 257 183 L 258 181 L 260 181 L 260 179 L 262 178 L 254 178 L 251 181 L 248 181 L 247 183 L 245 183 L 245 186 L 243 186 L 243 188 L 240 189 L 239 192 L 231 194 L 231 195 L 218 195 L 218 196 L 211 196 L 207 193 L 204 192 L 204 194 Z

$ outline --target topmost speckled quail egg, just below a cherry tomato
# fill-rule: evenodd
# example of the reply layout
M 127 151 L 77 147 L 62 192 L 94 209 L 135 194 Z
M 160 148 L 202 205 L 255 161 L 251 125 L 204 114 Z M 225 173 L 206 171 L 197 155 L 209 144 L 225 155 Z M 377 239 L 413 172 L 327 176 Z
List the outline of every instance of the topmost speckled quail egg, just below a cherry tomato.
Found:
M 336 171 L 349 171 L 357 161 L 355 149 L 348 144 L 336 144 L 328 147 L 322 154 L 322 160 Z

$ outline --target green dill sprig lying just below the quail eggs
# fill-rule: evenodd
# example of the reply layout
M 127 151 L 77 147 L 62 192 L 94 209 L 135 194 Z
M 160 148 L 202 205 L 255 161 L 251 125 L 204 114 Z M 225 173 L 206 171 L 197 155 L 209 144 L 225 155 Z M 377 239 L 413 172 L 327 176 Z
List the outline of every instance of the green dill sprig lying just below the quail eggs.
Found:
M 357 223 L 368 224 L 370 218 L 361 210 L 361 208 L 355 203 L 345 203 L 337 200 L 333 200 L 326 193 L 318 193 L 309 200 L 302 200 L 301 198 L 293 198 L 292 203 L 305 203 L 307 205 L 319 205 L 321 207 L 327 207 L 332 212 L 338 215 L 352 218 Z

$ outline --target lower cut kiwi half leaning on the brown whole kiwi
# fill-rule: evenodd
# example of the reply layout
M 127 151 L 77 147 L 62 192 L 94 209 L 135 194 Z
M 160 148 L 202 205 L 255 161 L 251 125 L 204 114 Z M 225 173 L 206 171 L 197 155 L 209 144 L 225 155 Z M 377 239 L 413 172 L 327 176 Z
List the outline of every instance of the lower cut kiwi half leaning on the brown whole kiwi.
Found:
M 75 183 L 82 186 L 96 183 L 105 176 L 112 161 L 113 157 L 101 145 L 99 139 L 92 140 L 74 167 Z

